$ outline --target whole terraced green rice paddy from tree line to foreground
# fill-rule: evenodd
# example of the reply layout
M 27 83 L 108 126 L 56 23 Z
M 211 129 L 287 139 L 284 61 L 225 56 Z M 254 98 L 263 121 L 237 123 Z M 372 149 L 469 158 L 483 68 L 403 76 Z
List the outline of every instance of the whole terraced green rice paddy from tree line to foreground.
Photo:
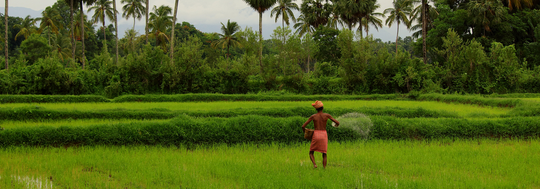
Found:
M 327 168 L 311 101 L 5 103 L 0 188 L 540 188 L 540 98 L 512 99 L 324 101 L 373 124 L 328 123 Z

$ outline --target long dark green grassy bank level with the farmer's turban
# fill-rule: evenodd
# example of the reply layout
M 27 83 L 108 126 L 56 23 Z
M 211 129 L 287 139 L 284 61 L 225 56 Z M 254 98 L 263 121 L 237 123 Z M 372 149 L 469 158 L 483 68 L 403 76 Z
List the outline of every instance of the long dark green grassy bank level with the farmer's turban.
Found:
M 446 111 L 432 111 L 418 107 L 407 109 L 400 107 L 360 107 L 356 109 L 329 109 L 327 113 L 334 116 L 341 116 L 348 112 L 363 112 L 377 116 L 395 117 L 459 117 L 456 113 Z M 0 119 L 4 120 L 62 120 L 62 119 L 170 119 L 181 114 L 192 117 L 235 117 L 246 115 L 259 115 L 270 117 L 309 117 L 316 111 L 312 107 L 287 107 L 275 109 L 231 109 L 231 110 L 211 110 L 211 111 L 170 111 L 167 109 L 147 109 L 147 110 L 47 110 L 39 106 L 17 107 L 14 109 L 0 109 Z M 1 124 L 0 124 L 1 125 Z

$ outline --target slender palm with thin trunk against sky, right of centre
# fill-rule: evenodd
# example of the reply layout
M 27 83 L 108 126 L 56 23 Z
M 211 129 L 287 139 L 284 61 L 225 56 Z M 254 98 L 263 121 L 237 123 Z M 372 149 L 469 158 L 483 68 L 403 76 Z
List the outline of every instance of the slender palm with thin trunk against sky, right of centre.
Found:
M 384 14 L 390 14 L 386 19 L 386 25 L 388 28 L 395 22 L 397 23 L 397 35 L 396 35 L 396 53 L 397 53 L 397 39 L 400 33 L 400 24 L 404 23 L 407 28 L 410 27 L 410 21 L 408 17 L 413 12 L 413 1 L 411 0 L 397 0 L 394 1 L 394 8 L 384 10 Z

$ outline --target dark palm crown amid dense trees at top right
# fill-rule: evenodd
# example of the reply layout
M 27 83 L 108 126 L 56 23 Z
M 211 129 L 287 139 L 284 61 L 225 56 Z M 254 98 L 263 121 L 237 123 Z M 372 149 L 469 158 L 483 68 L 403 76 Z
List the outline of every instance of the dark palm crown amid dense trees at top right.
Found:
M 490 24 L 501 23 L 501 17 L 504 13 L 503 4 L 497 0 L 471 1 L 468 4 L 469 17 L 473 17 L 475 24 L 480 24 L 485 30 L 491 31 Z

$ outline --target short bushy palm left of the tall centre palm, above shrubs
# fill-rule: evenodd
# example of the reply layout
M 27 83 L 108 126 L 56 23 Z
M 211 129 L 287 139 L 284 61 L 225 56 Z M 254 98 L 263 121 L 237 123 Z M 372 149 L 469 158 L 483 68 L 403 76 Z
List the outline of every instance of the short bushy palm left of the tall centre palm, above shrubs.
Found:
M 229 48 L 232 46 L 241 46 L 240 40 L 242 40 L 242 36 L 238 35 L 238 31 L 240 31 L 241 28 L 238 25 L 237 22 L 231 22 L 231 20 L 227 21 L 227 26 L 225 26 L 223 23 L 221 23 L 221 33 L 215 33 L 215 35 L 219 36 L 220 38 L 218 40 L 215 40 L 212 42 L 212 47 L 215 48 L 227 48 L 227 59 L 229 58 Z

